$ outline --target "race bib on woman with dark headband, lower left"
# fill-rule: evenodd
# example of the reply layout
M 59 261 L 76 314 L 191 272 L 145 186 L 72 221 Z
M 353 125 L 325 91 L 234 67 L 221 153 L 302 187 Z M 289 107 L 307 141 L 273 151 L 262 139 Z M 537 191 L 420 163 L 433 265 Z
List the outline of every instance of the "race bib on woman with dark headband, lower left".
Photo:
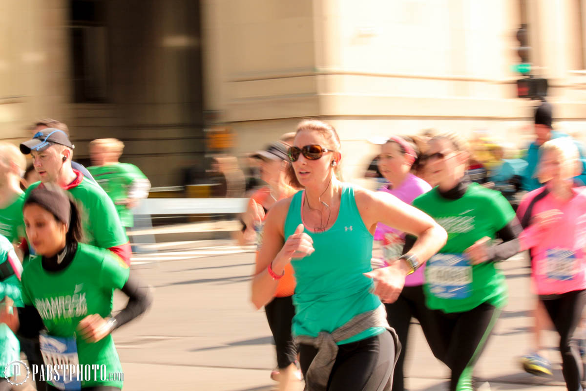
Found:
M 45 365 L 53 370 L 50 383 L 59 390 L 81 390 L 81 382 L 77 373 L 69 373 L 71 366 L 79 365 L 75 338 L 63 338 L 45 333 L 39 334 L 40 352 Z M 58 376 L 55 376 L 57 373 Z

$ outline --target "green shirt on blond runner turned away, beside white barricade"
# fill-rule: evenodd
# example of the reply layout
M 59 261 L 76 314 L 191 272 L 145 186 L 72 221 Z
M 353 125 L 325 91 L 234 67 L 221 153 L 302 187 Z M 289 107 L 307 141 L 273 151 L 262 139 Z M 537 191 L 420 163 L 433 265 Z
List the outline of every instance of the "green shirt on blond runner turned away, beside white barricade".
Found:
M 127 205 L 124 205 L 122 201 L 129 198 L 128 190 L 132 182 L 145 180 L 147 177 L 142 174 L 142 171 L 137 166 L 128 163 L 91 166 L 87 169 L 114 202 L 122 225 L 125 227 L 134 226 L 132 210 Z

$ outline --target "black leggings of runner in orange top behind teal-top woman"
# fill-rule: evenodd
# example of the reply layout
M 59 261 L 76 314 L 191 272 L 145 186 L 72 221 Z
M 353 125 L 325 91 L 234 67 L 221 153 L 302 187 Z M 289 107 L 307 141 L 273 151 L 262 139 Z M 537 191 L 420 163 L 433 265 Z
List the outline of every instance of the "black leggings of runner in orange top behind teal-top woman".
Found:
M 268 327 L 275 339 L 278 368 L 287 368 L 297 361 L 297 346 L 291 335 L 291 322 L 295 316 L 295 307 L 291 296 L 275 297 L 264 307 Z

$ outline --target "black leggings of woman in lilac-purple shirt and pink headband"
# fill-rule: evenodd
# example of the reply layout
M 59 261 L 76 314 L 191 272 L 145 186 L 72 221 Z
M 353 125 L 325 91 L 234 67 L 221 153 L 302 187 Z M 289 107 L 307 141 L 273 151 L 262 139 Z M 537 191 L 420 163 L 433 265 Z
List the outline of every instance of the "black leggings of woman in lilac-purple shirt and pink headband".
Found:
M 437 310 L 430 310 L 425 306 L 423 285 L 404 287 L 397 301 L 392 304 L 385 304 L 384 307 L 387 310 L 387 321 L 389 321 L 390 327 L 395 329 L 399 342 L 401 342 L 401 353 L 393 373 L 393 391 L 403 391 L 403 363 L 407 351 L 409 326 L 412 317 L 419 321 L 425 339 L 427 339 L 434 356 L 440 360 L 444 359 L 444 351 L 442 351 L 441 345 L 438 346 L 438 341 L 442 336 L 439 334 L 435 324 L 437 316 L 435 312 Z

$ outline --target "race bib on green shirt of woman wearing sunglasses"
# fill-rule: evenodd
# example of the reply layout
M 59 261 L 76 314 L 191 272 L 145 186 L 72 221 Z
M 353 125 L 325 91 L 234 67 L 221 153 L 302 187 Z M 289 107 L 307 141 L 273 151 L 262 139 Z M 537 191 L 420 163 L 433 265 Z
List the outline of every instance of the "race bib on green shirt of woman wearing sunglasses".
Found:
M 435 297 L 467 298 L 472 292 L 472 266 L 462 254 L 435 254 L 425 266 L 425 282 Z

